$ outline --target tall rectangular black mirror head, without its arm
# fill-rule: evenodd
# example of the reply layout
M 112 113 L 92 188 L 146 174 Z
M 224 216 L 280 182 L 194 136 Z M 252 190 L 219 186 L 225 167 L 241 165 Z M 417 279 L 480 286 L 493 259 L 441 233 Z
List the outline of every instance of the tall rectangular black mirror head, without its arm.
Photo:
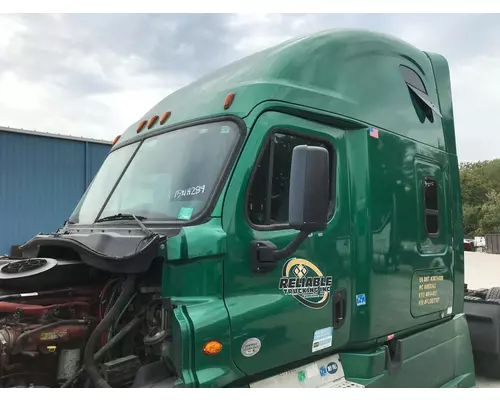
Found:
M 318 146 L 297 146 L 292 153 L 288 220 L 308 233 L 324 231 L 330 202 L 330 156 Z

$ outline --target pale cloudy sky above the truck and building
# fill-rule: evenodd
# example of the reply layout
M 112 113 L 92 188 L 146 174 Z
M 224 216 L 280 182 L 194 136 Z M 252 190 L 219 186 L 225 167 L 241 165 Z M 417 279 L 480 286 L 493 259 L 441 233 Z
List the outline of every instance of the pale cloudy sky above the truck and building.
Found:
M 334 28 L 443 54 L 459 160 L 500 158 L 500 14 L 0 14 L 0 126 L 112 140 L 203 75 Z

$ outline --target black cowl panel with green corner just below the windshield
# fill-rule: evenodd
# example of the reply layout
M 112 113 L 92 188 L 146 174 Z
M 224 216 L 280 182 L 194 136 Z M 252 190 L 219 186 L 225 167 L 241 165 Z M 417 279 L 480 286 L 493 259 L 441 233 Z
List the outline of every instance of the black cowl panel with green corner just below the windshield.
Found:
M 226 233 L 219 218 L 201 225 L 161 229 L 145 235 L 137 228 L 96 229 L 39 234 L 20 246 L 23 257 L 80 258 L 91 267 L 116 274 L 141 274 L 153 260 L 167 262 L 213 257 L 226 252 Z

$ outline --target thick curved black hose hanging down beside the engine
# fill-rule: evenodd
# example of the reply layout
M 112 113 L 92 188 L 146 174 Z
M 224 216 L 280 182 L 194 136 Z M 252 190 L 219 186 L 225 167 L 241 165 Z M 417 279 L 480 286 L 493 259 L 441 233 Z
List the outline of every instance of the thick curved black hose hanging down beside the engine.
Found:
M 97 365 L 94 359 L 94 349 L 97 346 L 97 341 L 101 337 L 101 334 L 106 331 L 112 324 L 113 320 L 117 317 L 123 307 L 127 304 L 130 297 L 134 294 L 135 290 L 135 275 L 127 275 L 125 283 L 123 284 L 123 290 L 118 296 L 115 304 L 109 310 L 109 312 L 104 316 L 104 318 L 99 322 L 94 331 L 91 333 L 87 345 L 85 346 L 83 364 L 87 374 L 94 382 L 96 387 L 100 388 L 110 388 L 111 386 L 104 380 L 104 378 L 99 374 Z

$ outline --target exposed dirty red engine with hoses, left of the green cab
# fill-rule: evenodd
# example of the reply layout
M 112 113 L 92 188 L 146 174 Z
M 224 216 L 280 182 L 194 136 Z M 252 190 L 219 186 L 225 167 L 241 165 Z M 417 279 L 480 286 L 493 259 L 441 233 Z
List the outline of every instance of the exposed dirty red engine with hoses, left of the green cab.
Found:
M 138 385 L 170 335 L 164 303 L 132 274 L 0 258 L 0 387 Z

